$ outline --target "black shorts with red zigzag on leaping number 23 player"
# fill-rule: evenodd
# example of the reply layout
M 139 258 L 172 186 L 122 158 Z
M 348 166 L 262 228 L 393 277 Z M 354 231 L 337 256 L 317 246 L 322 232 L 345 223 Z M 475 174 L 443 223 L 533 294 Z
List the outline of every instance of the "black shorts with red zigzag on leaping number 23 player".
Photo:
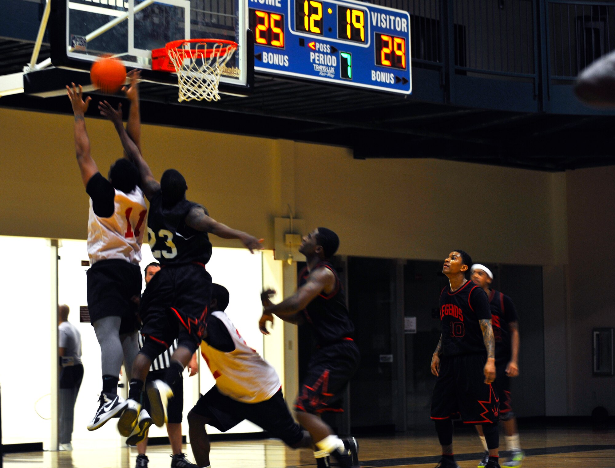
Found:
M 141 297 L 141 334 L 169 348 L 200 346 L 212 298 L 212 276 L 201 263 L 163 266 Z

